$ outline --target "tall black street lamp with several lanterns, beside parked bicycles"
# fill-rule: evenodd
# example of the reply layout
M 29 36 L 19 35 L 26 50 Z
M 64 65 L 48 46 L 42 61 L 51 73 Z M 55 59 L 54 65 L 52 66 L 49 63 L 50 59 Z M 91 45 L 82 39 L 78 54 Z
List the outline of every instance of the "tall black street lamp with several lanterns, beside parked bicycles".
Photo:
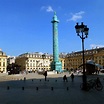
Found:
M 77 23 L 75 26 L 75 29 L 76 29 L 77 35 L 82 39 L 82 53 L 83 53 L 82 54 L 82 59 L 83 59 L 83 76 L 82 76 L 83 88 L 82 89 L 86 90 L 86 88 L 87 88 L 87 77 L 86 77 L 86 73 L 85 73 L 84 39 L 88 37 L 89 28 L 87 28 L 87 25 L 84 25 L 82 22 L 81 25 L 78 25 L 78 23 Z

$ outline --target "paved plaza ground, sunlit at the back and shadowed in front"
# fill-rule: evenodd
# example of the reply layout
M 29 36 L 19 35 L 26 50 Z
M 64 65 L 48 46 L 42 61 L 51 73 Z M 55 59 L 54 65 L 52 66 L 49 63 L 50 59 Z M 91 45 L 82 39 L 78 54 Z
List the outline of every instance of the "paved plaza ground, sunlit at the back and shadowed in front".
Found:
M 66 74 L 68 82 L 63 82 Z M 104 86 L 104 75 L 98 75 Z M 24 77 L 26 80 L 24 81 Z M 96 78 L 88 76 L 87 79 Z M 0 75 L 0 104 L 104 104 L 104 89 L 80 89 L 81 75 L 75 75 L 71 81 L 69 73 L 47 76 L 29 73 L 23 75 Z

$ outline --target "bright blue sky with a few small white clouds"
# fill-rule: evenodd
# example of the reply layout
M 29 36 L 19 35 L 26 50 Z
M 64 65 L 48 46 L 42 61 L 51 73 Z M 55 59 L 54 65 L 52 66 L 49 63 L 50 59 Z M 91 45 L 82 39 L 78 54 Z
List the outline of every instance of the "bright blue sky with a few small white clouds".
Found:
M 85 49 L 104 46 L 103 0 L 0 0 L 0 48 L 7 55 L 52 53 L 52 18 L 59 19 L 59 52 L 82 50 L 75 25 L 89 27 Z

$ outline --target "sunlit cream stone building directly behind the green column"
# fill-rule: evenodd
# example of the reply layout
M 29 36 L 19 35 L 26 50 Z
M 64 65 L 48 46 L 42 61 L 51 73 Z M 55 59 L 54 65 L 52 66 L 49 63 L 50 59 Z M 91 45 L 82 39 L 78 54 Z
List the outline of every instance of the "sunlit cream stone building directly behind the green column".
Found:
M 42 53 L 24 53 L 16 57 L 16 64 L 20 65 L 21 70 L 27 70 L 27 71 L 36 71 L 39 69 L 45 69 L 50 70 L 50 64 L 53 60 L 52 55 L 45 54 L 45 58 L 42 58 Z M 62 62 L 62 69 L 65 69 L 65 58 L 60 58 L 60 61 Z

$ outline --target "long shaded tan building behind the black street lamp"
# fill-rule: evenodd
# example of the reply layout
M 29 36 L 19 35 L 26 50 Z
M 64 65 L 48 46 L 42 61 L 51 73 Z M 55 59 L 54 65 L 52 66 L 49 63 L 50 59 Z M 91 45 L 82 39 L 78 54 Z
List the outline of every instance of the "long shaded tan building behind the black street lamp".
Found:
M 104 48 L 95 48 L 91 50 L 85 50 L 85 63 L 88 60 L 92 60 L 101 66 L 104 66 Z M 72 52 L 65 57 L 65 68 L 76 69 L 83 64 L 82 51 Z

